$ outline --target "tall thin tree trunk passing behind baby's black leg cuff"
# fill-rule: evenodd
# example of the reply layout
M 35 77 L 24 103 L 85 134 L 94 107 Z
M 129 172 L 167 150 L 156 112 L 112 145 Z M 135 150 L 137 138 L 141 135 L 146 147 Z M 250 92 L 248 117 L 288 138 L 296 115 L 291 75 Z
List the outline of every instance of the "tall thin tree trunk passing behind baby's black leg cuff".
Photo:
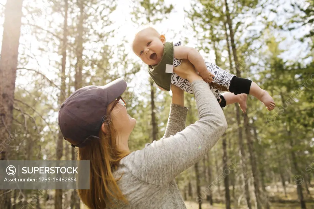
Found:
M 238 61 L 238 56 L 236 53 L 236 44 L 234 41 L 234 34 L 233 34 L 233 29 L 232 29 L 232 20 L 230 19 L 230 13 L 229 13 L 229 8 L 228 8 L 228 3 L 227 0 L 225 0 L 225 6 L 226 6 L 226 17 L 227 17 L 227 23 L 229 26 L 229 32 L 230 32 L 230 41 L 231 41 L 231 47 L 232 47 L 232 52 L 233 52 L 233 58 L 235 61 L 235 67 L 236 67 L 236 76 L 241 77 L 241 72 L 239 69 L 239 61 Z M 240 156 L 241 156 L 241 166 L 243 170 L 243 175 L 244 175 L 244 184 L 245 184 L 245 195 L 246 195 L 246 202 L 247 206 L 249 209 L 252 209 L 251 206 L 251 200 L 250 200 L 250 191 L 249 191 L 249 185 L 247 181 L 247 172 L 246 172 L 246 155 L 244 152 L 244 146 L 243 146 L 243 137 L 242 137 L 242 128 L 241 128 L 241 119 L 240 119 L 240 108 L 236 104 L 236 120 L 239 126 L 239 146 L 240 146 Z

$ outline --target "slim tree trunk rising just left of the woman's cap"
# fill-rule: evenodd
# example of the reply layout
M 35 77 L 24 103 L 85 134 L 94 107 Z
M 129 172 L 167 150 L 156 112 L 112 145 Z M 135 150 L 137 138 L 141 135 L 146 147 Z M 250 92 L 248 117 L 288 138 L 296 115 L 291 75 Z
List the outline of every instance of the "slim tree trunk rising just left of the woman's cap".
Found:
M 64 14 L 64 24 L 63 24 L 63 40 L 62 40 L 62 63 L 61 63 L 61 91 L 59 95 L 59 104 L 65 100 L 65 67 L 67 58 L 67 35 L 68 35 L 68 0 L 65 0 L 65 14 Z M 61 160 L 63 155 L 63 136 L 61 131 L 58 133 L 57 150 L 56 157 L 57 160 Z M 55 209 L 62 209 L 62 190 L 56 190 L 55 194 Z

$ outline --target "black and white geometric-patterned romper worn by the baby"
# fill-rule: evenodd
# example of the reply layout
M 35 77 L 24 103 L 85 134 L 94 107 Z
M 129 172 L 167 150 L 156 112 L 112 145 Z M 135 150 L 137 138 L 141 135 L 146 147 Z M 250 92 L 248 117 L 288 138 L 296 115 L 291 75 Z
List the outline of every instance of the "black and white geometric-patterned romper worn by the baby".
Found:
M 181 41 L 175 43 L 173 46 L 181 46 Z M 181 65 L 181 61 L 182 60 L 178 60 L 176 58 L 173 58 L 173 67 L 178 67 L 179 65 Z M 207 69 L 215 75 L 213 82 L 220 84 L 229 90 L 231 79 L 235 75 L 221 69 L 220 67 L 218 67 L 217 65 L 215 65 L 213 63 L 205 61 L 205 64 L 207 66 Z M 171 83 L 176 85 L 177 87 L 181 88 L 182 90 L 184 90 L 190 94 L 193 94 L 191 83 L 187 79 L 181 78 L 180 76 L 178 76 L 174 72 L 172 73 L 172 76 L 171 76 Z M 215 88 L 212 85 L 209 85 L 209 87 L 210 87 L 210 90 L 214 93 L 216 99 L 219 100 L 219 98 L 220 98 L 219 88 Z

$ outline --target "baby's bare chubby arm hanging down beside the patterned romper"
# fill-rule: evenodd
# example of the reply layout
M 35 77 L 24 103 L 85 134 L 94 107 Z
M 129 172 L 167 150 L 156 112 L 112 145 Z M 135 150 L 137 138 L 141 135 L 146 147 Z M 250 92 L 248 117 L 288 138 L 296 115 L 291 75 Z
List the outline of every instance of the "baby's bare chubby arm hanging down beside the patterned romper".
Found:
M 204 81 L 210 83 L 214 80 L 214 75 L 207 70 L 203 56 L 196 49 L 188 46 L 174 46 L 173 51 L 176 59 L 188 59 Z

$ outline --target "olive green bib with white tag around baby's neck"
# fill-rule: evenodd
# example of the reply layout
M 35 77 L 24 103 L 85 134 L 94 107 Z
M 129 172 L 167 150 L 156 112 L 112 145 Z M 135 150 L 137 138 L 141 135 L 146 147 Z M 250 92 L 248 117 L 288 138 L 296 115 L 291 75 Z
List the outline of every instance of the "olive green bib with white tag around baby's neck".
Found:
M 172 75 L 172 73 L 166 72 L 166 67 L 170 69 L 170 65 L 172 65 L 173 69 L 173 56 L 173 43 L 166 42 L 164 46 L 164 54 L 161 58 L 161 61 L 157 65 L 149 65 L 148 69 L 150 77 L 157 84 L 157 86 L 165 89 L 166 91 L 170 91 Z

